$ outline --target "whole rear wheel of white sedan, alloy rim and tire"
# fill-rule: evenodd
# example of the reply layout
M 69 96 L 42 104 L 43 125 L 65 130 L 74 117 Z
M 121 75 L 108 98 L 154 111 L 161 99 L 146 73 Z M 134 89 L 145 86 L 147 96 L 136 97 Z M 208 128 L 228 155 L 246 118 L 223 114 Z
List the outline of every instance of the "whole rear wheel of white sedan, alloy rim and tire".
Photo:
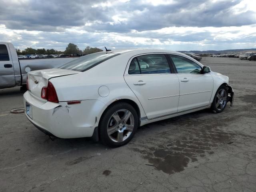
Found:
M 103 144 L 119 147 L 127 144 L 138 128 L 138 114 L 128 103 L 113 104 L 99 123 L 99 136 Z

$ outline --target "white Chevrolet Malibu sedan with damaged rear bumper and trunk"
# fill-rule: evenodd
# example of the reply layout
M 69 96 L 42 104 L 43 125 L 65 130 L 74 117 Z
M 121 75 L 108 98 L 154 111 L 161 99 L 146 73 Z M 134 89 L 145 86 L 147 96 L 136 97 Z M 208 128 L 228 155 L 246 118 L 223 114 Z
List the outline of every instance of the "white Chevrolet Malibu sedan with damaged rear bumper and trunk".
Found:
M 93 137 L 112 147 L 138 126 L 232 105 L 229 79 L 180 52 L 116 50 L 28 73 L 25 114 L 58 138 Z

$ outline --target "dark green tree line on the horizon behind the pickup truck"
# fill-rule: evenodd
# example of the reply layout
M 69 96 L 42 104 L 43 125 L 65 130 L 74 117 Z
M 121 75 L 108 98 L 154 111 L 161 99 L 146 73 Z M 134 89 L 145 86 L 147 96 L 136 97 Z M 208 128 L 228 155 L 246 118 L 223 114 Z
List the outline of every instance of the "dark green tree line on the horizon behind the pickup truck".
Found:
M 96 48 L 96 47 L 90 47 L 87 46 L 83 51 L 78 48 L 77 45 L 73 43 L 69 43 L 66 47 L 65 51 L 58 51 L 54 49 L 34 49 L 31 47 L 28 47 L 24 50 L 16 49 L 16 52 L 18 55 L 32 55 L 32 54 L 44 54 L 44 55 L 50 55 L 50 54 L 72 54 L 72 53 L 81 53 L 81 54 L 91 54 L 103 51 L 102 49 Z

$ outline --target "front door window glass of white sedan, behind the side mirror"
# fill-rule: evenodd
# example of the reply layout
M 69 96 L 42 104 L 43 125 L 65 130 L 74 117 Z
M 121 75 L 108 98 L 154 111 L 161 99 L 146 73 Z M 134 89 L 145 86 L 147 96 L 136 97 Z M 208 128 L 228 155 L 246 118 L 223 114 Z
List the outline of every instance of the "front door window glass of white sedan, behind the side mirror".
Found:
M 202 68 L 192 60 L 178 55 L 169 56 L 176 66 L 178 73 L 201 74 Z

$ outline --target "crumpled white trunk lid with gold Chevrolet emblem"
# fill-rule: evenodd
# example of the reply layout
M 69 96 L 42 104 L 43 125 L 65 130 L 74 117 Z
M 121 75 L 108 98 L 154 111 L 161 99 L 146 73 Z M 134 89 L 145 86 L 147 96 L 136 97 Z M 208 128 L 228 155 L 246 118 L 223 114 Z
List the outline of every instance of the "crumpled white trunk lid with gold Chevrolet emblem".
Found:
M 48 80 L 50 78 L 78 73 L 80 72 L 58 68 L 31 71 L 27 74 L 29 90 L 34 96 L 41 98 L 42 87 L 48 85 Z

